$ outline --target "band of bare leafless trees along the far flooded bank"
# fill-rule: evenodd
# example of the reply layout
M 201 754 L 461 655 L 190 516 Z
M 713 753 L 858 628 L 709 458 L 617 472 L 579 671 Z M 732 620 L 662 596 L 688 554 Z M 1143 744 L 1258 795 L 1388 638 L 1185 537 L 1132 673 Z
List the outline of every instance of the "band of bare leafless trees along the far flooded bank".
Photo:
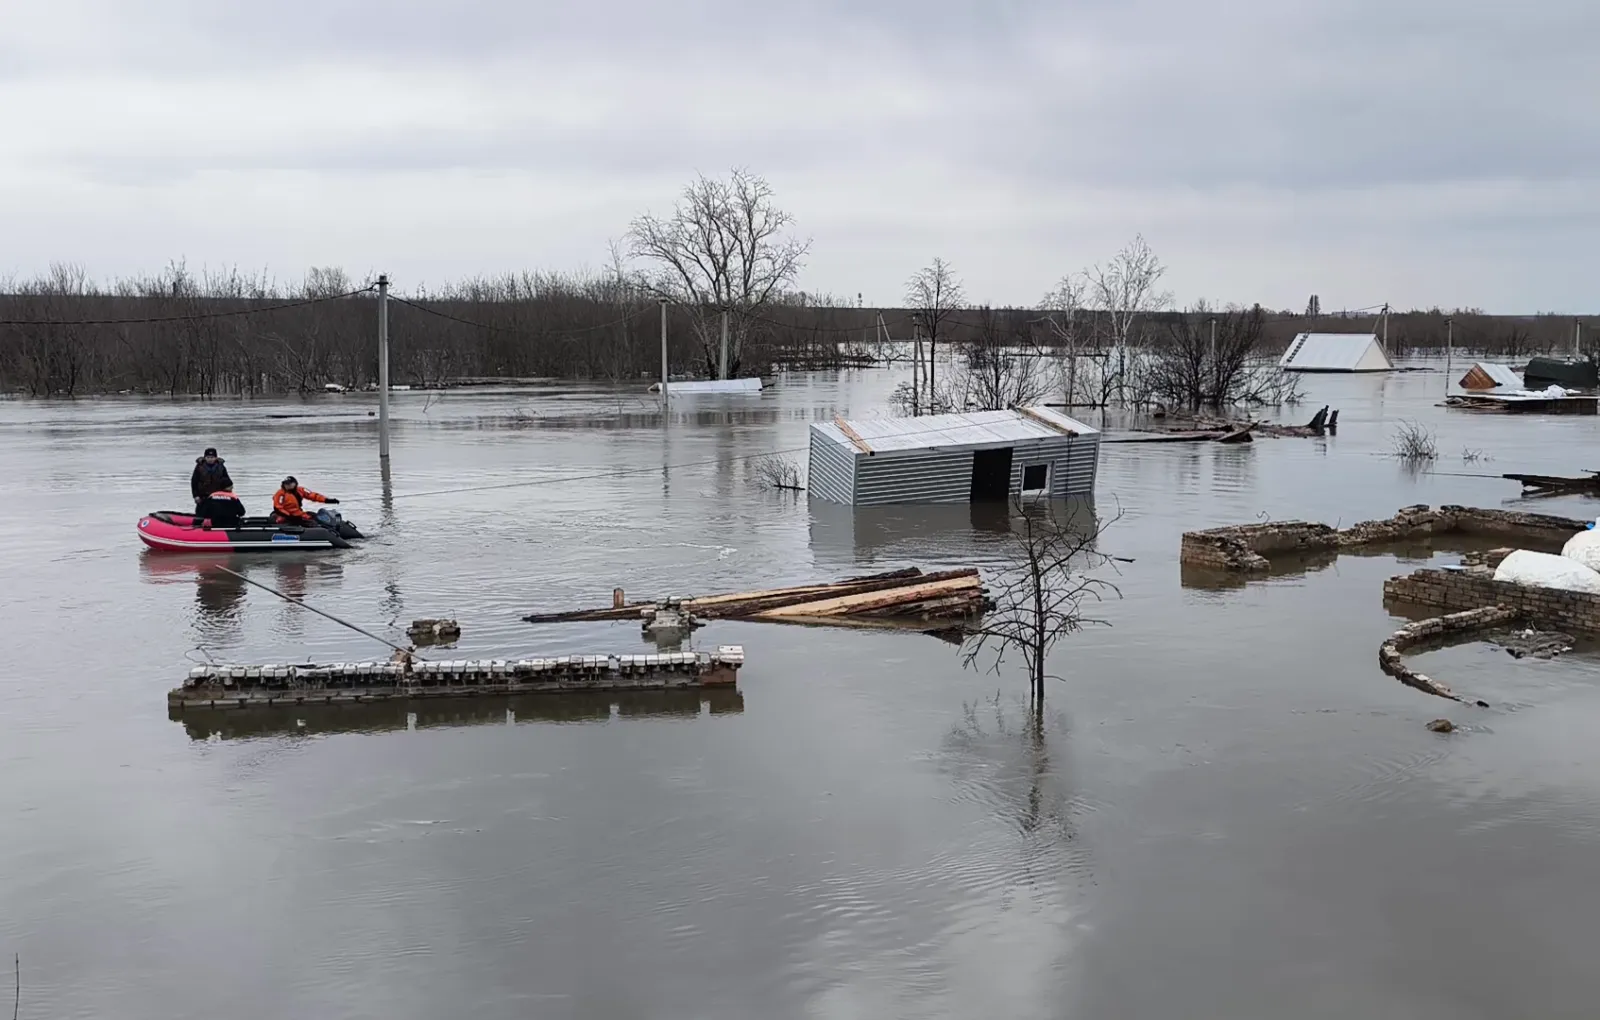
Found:
M 811 241 L 757 174 L 698 177 L 667 214 L 643 214 L 606 269 L 478 277 L 395 293 L 390 379 L 654 379 L 661 307 L 674 376 L 760 374 L 910 361 L 896 403 L 912 414 L 1067 403 L 1238 403 L 1283 396 L 1269 361 L 1301 331 L 1371 329 L 1373 318 L 1261 305 L 1174 309 L 1142 238 L 1067 273 L 1032 309 L 966 301 L 942 261 L 914 273 L 902 307 L 864 309 L 798 289 Z M 373 385 L 378 309 L 370 280 L 312 269 L 293 285 L 174 262 L 96 283 L 77 265 L 0 283 L 0 390 L 34 396 L 134 392 L 258 395 Z M 1389 317 L 1392 353 L 1506 358 L 1568 350 L 1573 320 L 1478 310 Z M 726 337 L 726 339 L 725 339 Z M 942 347 L 941 347 L 942 345 Z M 726 350 L 726 353 L 723 353 Z

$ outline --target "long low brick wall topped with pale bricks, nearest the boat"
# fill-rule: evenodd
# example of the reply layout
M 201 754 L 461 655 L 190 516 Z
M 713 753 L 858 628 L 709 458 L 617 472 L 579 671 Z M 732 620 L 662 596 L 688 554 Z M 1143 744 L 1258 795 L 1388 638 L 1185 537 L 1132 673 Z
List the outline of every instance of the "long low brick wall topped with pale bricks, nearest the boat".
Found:
M 656 655 L 456 659 L 397 655 L 331 665 L 202 665 L 166 694 L 170 710 L 347 705 L 430 697 L 506 697 L 573 691 L 675 691 L 738 683 L 744 649 Z

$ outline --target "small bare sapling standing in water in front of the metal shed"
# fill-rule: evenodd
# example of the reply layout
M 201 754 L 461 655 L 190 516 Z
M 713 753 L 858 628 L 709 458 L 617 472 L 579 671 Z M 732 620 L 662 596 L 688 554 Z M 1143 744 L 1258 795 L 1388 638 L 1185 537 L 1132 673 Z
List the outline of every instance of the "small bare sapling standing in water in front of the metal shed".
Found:
M 973 628 L 963 662 L 973 667 L 989 659 L 990 671 L 998 673 L 1008 654 L 1022 655 L 1034 702 L 1043 705 L 1050 649 L 1085 625 L 1109 627 L 1107 620 L 1085 617 L 1080 603 L 1101 601 L 1107 593 L 1122 596 L 1117 585 L 1088 572 L 1110 563 L 1094 547 L 1122 513 L 1099 521 L 1085 510 L 1062 521 L 1051 504 L 1030 505 L 1021 499 L 1013 500 L 1011 513 L 1018 524 L 1008 569 L 994 582 L 994 609 Z M 1083 515 L 1090 520 L 1082 520 Z

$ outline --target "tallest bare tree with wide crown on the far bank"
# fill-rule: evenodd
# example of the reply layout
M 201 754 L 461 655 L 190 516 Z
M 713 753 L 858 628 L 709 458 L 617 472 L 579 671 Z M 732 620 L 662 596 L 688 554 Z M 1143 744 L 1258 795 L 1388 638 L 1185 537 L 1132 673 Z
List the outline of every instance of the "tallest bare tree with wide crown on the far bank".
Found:
M 723 312 L 728 369 L 734 373 L 757 309 L 798 277 L 811 240 L 792 237 L 792 225 L 794 217 L 778 208 L 766 179 L 734 168 L 726 181 L 696 177 L 672 216 L 645 214 L 629 229 L 634 257 L 656 267 L 654 291 L 690 310 L 707 368 L 718 361 Z

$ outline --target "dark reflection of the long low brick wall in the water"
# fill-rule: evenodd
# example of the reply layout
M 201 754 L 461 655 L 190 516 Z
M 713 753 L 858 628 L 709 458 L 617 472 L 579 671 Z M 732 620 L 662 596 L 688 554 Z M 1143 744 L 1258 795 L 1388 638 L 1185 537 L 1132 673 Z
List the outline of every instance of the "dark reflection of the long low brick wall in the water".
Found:
M 744 711 L 739 691 L 624 691 L 526 697 L 378 702 L 365 705 L 283 705 L 272 708 L 168 708 L 194 740 L 248 740 L 312 734 L 382 734 L 456 726 L 520 723 L 603 723 L 691 719 Z

